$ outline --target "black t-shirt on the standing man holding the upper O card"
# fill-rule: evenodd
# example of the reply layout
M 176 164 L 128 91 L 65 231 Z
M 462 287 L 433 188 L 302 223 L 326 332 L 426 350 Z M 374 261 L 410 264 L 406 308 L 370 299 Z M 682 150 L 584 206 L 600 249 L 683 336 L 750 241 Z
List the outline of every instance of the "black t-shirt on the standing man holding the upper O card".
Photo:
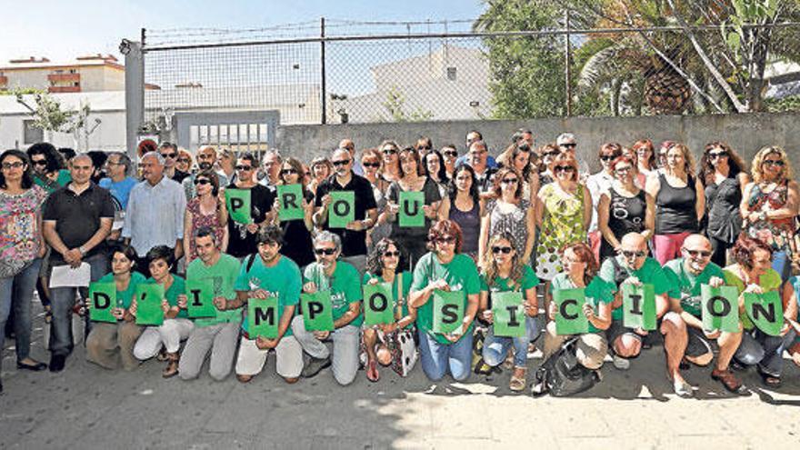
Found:
M 366 212 L 377 208 L 375 195 L 373 195 L 372 185 L 363 176 L 350 173 L 350 182 L 347 185 L 339 185 L 336 175 L 331 175 L 316 188 L 314 205 L 322 206 L 322 197 L 332 191 L 353 191 L 355 193 L 355 220 L 364 220 Z M 353 231 L 345 228 L 328 228 L 327 216 L 325 216 L 323 228 L 342 238 L 342 255 L 355 256 L 366 255 L 366 231 Z

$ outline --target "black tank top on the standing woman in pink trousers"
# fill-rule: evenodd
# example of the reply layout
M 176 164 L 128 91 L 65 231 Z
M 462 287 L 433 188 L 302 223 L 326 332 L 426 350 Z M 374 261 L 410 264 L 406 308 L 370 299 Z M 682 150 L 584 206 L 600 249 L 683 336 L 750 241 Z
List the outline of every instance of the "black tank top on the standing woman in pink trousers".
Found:
M 695 178 L 686 177 L 685 187 L 673 187 L 664 174 L 658 174 L 661 187 L 655 195 L 655 234 L 697 233 L 697 193 Z

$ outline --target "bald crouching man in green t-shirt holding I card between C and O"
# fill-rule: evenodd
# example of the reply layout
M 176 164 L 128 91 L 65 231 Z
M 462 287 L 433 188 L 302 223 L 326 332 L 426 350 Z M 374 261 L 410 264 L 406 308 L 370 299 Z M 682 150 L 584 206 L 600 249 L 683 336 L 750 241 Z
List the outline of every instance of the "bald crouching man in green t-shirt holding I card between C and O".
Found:
M 677 313 L 670 311 L 669 281 L 664 269 L 655 259 L 647 256 L 647 240 L 639 233 L 623 236 L 619 255 L 608 258 L 600 267 L 600 277 L 611 285 L 615 292 L 612 304 L 612 323 L 606 331 L 608 345 L 614 350 L 614 366 L 621 370 L 630 368 L 628 358 L 639 355 L 642 344 L 649 335 L 643 329 L 625 328 L 623 325 L 622 287 L 631 285 L 653 285 L 655 291 L 655 314 L 658 317 L 658 332 L 664 335 L 666 353 L 666 376 L 682 397 L 694 395 L 680 373 L 681 360 L 686 349 L 686 325 Z M 651 338 L 657 335 L 650 336 Z

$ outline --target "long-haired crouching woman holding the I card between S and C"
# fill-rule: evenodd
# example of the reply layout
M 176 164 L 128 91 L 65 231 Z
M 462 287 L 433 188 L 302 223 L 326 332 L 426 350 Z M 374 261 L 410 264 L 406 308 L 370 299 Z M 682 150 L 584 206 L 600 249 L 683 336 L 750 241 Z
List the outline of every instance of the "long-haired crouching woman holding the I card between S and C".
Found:
M 536 298 L 536 278 L 531 266 L 516 252 L 511 235 L 504 232 L 492 235 L 484 256 L 481 272 L 480 317 L 489 325 L 483 345 L 483 359 L 486 365 L 495 367 L 503 364 L 508 350 L 514 347 L 514 372 L 511 374 L 509 389 L 518 392 L 525 389 L 527 374 L 528 344 L 539 335 L 536 315 L 539 305 Z M 525 305 L 525 335 L 520 337 L 501 337 L 495 335 L 495 316 L 492 312 L 492 296 L 495 293 L 519 292 Z M 520 321 L 522 317 L 517 317 Z

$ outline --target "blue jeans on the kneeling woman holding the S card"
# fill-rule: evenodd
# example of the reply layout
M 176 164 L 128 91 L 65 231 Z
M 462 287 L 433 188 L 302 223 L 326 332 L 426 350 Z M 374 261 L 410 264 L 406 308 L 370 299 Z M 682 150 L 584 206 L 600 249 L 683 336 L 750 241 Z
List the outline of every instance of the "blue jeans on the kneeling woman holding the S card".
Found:
M 456 381 L 464 381 L 469 376 L 472 363 L 472 333 L 464 335 L 453 344 L 440 344 L 434 336 L 419 330 L 419 355 L 422 370 L 428 378 L 439 381 L 447 370 Z

